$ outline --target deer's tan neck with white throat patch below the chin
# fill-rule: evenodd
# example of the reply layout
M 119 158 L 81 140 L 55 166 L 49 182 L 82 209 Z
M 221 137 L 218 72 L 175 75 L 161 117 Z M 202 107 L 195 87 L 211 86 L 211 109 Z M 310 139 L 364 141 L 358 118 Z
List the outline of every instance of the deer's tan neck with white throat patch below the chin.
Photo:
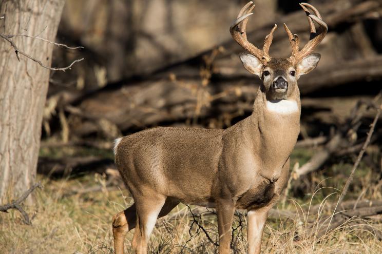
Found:
M 243 124 L 242 133 L 252 154 L 256 154 L 262 175 L 281 172 L 300 132 L 300 113 L 298 90 L 288 100 L 269 101 L 259 89 L 252 115 Z

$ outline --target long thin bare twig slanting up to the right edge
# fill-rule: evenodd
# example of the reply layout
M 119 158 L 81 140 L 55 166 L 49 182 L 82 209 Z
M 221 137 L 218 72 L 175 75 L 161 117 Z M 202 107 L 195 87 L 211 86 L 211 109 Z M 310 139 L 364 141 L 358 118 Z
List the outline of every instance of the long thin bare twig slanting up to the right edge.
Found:
M 380 111 L 382 109 L 382 104 L 379 105 L 378 109 L 377 109 L 377 113 L 375 114 L 375 117 L 374 117 L 374 120 L 373 120 L 373 123 L 370 125 L 370 130 L 368 132 L 368 135 L 367 135 L 367 139 L 364 143 L 364 146 L 362 146 L 362 149 L 360 150 L 359 154 L 358 154 L 358 157 L 357 157 L 357 160 L 355 161 L 354 165 L 353 165 L 353 168 L 352 168 L 352 171 L 349 175 L 349 178 L 348 180 L 346 181 L 345 183 L 345 186 L 343 186 L 343 189 L 342 189 L 342 192 L 339 196 L 339 199 L 337 201 L 337 204 L 336 206 L 334 207 L 334 210 L 333 210 L 333 214 L 330 218 L 330 221 L 329 221 L 329 225 L 328 225 L 328 228 L 327 228 L 327 231 L 329 229 L 329 226 L 330 226 L 330 223 L 334 217 L 334 214 L 336 213 L 336 210 L 337 210 L 337 207 L 342 203 L 342 200 L 343 198 L 346 196 L 347 192 L 348 192 L 348 189 L 349 189 L 349 185 L 350 183 L 353 181 L 353 178 L 354 178 L 354 172 L 355 170 L 357 169 L 362 157 L 364 156 L 364 153 L 366 151 L 366 148 L 368 147 L 369 143 L 370 143 L 370 139 L 371 139 L 371 136 L 374 132 L 374 128 L 375 128 L 375 125 L 377 124 L 377 121 L 378 121 L 378 118 L 379 118 L 379 115 L 380 115 Z

